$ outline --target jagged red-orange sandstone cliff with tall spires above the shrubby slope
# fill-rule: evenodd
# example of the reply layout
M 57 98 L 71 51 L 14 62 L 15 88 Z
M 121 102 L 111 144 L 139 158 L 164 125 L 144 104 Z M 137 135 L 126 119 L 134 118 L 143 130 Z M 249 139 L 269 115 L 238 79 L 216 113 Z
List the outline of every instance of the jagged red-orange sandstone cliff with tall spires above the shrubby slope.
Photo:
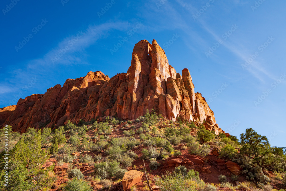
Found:
M 206 129 L 224 133 L 206 100 L 194 93 L 188 69 L 177 73 L 156 40 L 135 45 L 127 73 L 108 78 L 97 71 L 67 79 L 63 87 L 56 85 L 45 94 L 20 99 L 9 115 L 0 110 L 0 119 L 23 133 L 28 127 L 58 127 L 67 120 L 77 123 L 115 113 L 122 119 L 136 119 L 153 108 L 169 120 L 205 121 Z

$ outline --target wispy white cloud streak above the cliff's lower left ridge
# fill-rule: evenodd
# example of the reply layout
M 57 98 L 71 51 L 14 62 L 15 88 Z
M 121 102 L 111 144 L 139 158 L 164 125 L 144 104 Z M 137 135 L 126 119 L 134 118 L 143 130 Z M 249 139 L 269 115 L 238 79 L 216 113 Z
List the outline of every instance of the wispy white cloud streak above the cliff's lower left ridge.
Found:
M 130 23 L 128 22 L 108 22 L 101 25 L 90 25 L 88 28 L 82 31 L 80 30 L 81 37 L 78 38 L 78 40 L 74 38 L 77 37 L 79 32 L 74 31 L 74 35 L 60 40 L 56 47 L 49 50 L 42 57 L 19 63 L 19 65 L 24 66 L 22 69 L 11 67 L 10 71 L 6 72 L 9 77 L 1 83 L 1 97 L 3 97 L 3 100 L 11 102 L 15 96 L 17 97 L 19 93 L 23 92 L 23 87 L 31 83 L 31 80 L 36 78 L 37 83 L 35 83 L 35 85 L 37 86 L 40 81 L 43 83 L 43 79 L 56 77 L 52 76 L 57 75 L 53 74 L 53 70 L 60 65 L 88 64 L 88 55 L 85 52 L 86 48 L 96 44 L 99 39 L 106 38 L 110 31 L 122 31 L 128 27 L 130 27 Z M 71 46 L 70 41 L 73 39 L 74 43 Z M 69 50 L 66 50 L 66 52 L 53 63 L 52 59 L 55 59 L 55 56 L 61 52 L 60 50 L 66 46 Z M 35 82 L 35 80 L 32 82 Z M 3 101 L 0 101 L 0 103 L 4 104 Z

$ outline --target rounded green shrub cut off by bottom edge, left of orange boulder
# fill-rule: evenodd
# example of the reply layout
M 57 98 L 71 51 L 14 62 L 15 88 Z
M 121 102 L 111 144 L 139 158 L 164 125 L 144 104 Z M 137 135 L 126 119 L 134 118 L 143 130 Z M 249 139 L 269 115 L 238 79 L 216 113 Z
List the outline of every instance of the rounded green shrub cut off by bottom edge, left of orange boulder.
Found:
M 69 180 L 67 185 L 63 187 L 63 191 L 92 191 L 90 184 L 88 182 L 74 178 Z

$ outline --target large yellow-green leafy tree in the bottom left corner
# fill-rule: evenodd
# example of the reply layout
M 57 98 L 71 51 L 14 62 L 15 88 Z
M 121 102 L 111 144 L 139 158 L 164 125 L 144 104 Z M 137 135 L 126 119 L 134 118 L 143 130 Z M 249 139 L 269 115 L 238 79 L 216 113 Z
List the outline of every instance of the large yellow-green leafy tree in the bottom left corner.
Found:
M 52 181 L 48 169 L 41 166 L 47 160 L 48 155 L 41 149 L 41 131 L 34 137 L 22 137 L 15 147 L 9 151 L 9 186 L 7 190 L 41 190 L 48 187 Z M 5 160 L 1 156 L 1 171 L 4 170 Z M 1 173 L 0 173 L 1 174 Z M 2 179 L 3 176 L 0 177 Z M 0 181 L 1 182 L 1 181 Z

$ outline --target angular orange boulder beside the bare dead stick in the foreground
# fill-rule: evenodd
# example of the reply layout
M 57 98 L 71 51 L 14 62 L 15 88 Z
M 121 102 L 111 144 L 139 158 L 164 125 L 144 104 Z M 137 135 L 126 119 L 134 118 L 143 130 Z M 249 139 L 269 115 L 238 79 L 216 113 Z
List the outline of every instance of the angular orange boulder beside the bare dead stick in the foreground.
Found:
M 131 188 L 134 184 L 141 182 L 141 178 L 143 176 L 143 172 L 137 170 L 130 170 L 125 172 L 124 177 L 122 179 L 123 190 Z

